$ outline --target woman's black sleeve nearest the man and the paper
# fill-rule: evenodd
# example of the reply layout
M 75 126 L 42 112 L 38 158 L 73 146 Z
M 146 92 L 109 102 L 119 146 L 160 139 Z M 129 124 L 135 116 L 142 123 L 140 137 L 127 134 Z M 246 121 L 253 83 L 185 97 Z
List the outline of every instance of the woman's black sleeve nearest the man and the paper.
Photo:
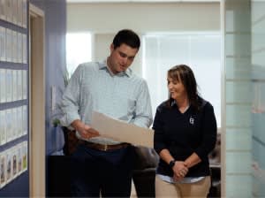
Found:
M 155 135 L 154 135 L 154 148 L 156 153 L 159 155 L 161 150 L 163 148 L 166 148 L 166 145 L 163 141 L 163 116 L 162 116 L 162 110 L 160 107 L 156 109 L 155 112 L 155 119 L 154 119 L 154 124 L 153 124 L 153 129 L 155 130 Z

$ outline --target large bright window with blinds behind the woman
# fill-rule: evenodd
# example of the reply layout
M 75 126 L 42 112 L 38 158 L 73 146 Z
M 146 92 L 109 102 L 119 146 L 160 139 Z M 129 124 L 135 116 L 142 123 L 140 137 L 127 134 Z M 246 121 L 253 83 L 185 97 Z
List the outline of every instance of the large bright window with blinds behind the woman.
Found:
M 148 81 L 152 110 L 167 100 L 167 71 L 174 65 L 189 65 L 203 98 L 214 106 L 221 126 L 221 35 L 146 34 L 143 36 L 143 78 Z

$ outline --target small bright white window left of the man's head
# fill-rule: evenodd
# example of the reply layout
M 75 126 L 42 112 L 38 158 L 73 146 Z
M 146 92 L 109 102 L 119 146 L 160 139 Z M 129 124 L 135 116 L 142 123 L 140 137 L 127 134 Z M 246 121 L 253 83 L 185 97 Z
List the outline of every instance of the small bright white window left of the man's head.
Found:
M 79 64 L 91 61 L 91 48 L 90 33 L 66 34 L 66 65 L 70 76 Z

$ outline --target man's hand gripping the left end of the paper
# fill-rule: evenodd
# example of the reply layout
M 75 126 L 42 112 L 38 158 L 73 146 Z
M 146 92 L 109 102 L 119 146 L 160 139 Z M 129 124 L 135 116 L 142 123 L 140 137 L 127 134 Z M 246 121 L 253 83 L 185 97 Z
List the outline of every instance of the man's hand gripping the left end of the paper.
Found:
M 80 120 L 74 120 L 72 126 L 83 139 L 90 139 L 99 136 L 99 132 L 91 126 L 82 123 Z

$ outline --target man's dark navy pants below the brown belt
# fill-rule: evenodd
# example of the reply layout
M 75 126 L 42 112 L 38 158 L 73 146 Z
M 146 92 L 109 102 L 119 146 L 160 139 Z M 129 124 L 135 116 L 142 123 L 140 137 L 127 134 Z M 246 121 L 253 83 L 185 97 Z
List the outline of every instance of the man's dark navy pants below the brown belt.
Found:
M 130 197 L 132 171 L 131 146 L 101 151 L 79 145 L 72 154 L 72 196 Z

